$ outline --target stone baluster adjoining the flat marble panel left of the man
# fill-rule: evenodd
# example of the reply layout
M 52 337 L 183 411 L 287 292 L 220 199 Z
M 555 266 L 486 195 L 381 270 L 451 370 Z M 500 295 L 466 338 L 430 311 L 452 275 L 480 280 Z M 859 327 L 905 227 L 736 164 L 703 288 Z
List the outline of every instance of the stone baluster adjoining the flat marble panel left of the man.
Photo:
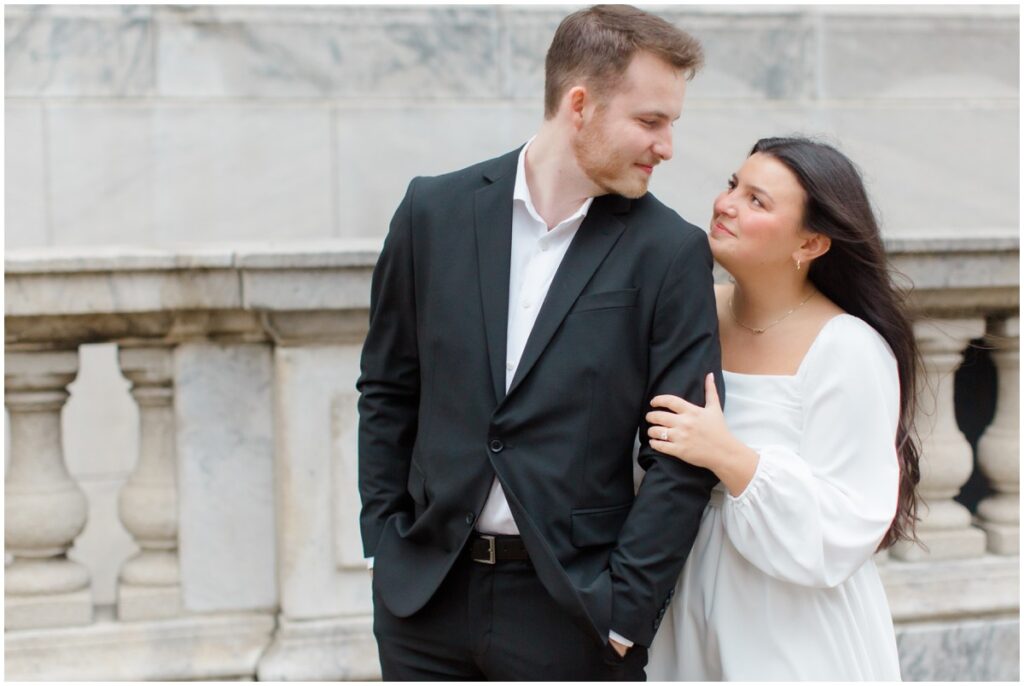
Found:
M 140 548 L 121 568 L 118 616 L 173 616 L 181 610 L 173 350 L 122 348 L 118 357 L 139 410 L 138 461 L 118 505 Z

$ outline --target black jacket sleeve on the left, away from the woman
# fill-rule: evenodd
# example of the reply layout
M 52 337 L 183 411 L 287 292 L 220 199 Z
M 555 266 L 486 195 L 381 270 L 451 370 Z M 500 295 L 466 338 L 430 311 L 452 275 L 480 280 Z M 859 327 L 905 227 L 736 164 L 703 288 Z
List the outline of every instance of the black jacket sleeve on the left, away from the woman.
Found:
M 388 517 L 413 509 L 407 482 L 420 402 L 412 235 L 415 188 L 413 179 L 374 267 L 370 330 L 356 382 L 359 524 L 367 557 L 374 555 Z

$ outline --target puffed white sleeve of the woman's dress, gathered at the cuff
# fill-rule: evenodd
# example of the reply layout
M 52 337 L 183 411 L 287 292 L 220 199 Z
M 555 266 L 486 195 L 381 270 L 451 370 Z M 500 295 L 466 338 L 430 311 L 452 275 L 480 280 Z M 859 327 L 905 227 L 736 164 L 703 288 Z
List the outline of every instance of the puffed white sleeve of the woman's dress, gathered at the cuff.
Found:
M 762 447 L 754 478 L 722 508 L 726 534 L 748 561 L 817 588 L 842 584 L 871 558 L 899 488 L 895 357 L 860 319 L 830 323 L 827 335 L 799 373 L 799 454 Z

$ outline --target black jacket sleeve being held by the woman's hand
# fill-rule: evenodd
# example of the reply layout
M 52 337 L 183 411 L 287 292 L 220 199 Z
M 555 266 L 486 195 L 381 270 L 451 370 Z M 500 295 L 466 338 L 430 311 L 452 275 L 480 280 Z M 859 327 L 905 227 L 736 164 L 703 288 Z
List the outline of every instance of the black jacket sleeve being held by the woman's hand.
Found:
M 711 249 L 694 229 L 673 259 L 658 291 L 651 331 L 647 399 L 662 393 L 703 406 L 705 376 L 722 384 Z M 638 418 L 648 412 L 644 405 Z M 640 427 L 638 462 L 646 470 L 610 559 L 611 627 L 649 646 L 696 538 L 718 478 L 650 447 Z

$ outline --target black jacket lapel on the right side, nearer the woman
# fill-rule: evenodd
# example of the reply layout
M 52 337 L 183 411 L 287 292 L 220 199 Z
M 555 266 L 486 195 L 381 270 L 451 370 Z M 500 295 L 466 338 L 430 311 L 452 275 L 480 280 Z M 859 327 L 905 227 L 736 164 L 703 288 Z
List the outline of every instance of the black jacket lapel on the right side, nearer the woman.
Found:
M 615 217 L 615 213 L 625 212 L 629 209 L 630 204 L 629 200 L 621 196 L 601 196 L 594 199 L 594 203 L 587 213 L 587 218 L 584 219 L 575 238 L 572 239 L 572 243 L 551 282 L 548 296 L 544 299 L 534 329 L 529 333 L 529 338 L 526 339 L 526 347 L 523 349 L 522 357 L 519 358 L 519 366 L 516 368 L 515 377 L 512 379 L 506 397 L 511 395 L 522 382 L 523 377 L 529 374 L 530 369 L 548 346 L 548 342 L 551 341 L 551 337 L 558 331 L 562 319 L 565 318 L 572 304 L 580 297 L 580 293 L 583 292 L 591 276 L 604 261 L 608 251 L 618 241 L 625 226 Z M 508 285 L 506 285 L 507 294 Z M 506 318 L 507 309 L 508 299 L 506 298 L 503 309 L 503 312 L 506 312 Z

